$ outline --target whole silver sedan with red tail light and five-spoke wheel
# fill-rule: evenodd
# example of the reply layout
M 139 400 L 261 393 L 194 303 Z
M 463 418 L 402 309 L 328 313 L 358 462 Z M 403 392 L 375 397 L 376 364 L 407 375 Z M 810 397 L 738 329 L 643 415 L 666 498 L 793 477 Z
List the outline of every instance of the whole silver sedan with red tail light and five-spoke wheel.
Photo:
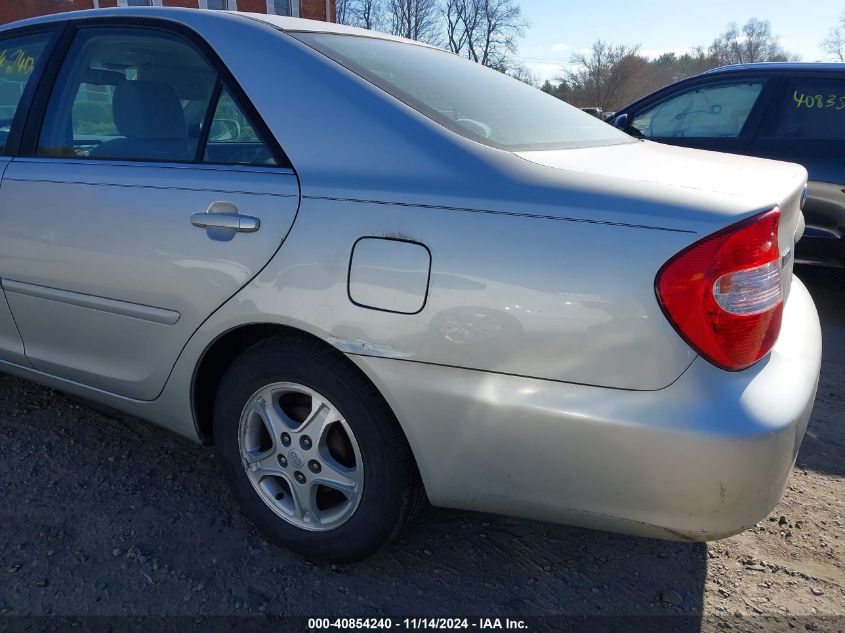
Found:
M 0 369 L 213 442 L 282 545 L 359 560 L 426 498 L 706 540 L 780 499 L 821 355 L 802 167 L 331 24 L 0 40 Z

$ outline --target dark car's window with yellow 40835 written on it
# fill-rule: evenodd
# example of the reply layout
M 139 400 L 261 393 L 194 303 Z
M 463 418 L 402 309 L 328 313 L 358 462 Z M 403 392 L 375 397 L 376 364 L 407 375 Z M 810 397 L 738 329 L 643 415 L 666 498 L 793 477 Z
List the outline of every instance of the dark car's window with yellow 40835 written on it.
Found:
M 792 81 L 775 134 L 787 139 L 845 140 L 845 81 Z

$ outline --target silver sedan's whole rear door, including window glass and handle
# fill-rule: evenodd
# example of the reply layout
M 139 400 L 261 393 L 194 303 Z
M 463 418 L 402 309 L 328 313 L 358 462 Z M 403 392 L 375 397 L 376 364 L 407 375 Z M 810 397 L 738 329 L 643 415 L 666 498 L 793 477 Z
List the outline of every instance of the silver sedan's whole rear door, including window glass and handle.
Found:
M 195 35 L 135 18 L 66 39 L 0 186 L 0 276 L 34 368 L 150 400 L 279 248 L 297 179 Z

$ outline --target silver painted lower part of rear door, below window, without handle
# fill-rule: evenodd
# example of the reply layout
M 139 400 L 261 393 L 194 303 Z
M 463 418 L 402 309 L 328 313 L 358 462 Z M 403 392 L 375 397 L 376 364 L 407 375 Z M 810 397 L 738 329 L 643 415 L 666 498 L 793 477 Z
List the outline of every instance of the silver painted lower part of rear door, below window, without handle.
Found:
M 220 202 L 261 230 L 191 224 Z M 15 159 L 0 187 L 0 275 L 29 362 L 154 399 L 194 330 L 279 248 L 298 202 L 296 178 L 273 170 Z

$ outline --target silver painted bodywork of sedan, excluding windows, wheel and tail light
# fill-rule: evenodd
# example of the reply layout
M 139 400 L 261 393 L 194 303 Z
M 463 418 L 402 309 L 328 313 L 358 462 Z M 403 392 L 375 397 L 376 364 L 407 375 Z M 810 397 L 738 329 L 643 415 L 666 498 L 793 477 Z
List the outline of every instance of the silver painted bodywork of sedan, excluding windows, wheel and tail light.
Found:
M 280 30 L 334 25 L 156 8 L 74 15 L 196 30 L 296 175 L 13 161 L 0 184 L 0 276 L 74 300 L 6 294 L 6 371 L 197 439 L 192 381 L 209 346 L 239 327 L 285 325 L 369 376 L 437 504 L 701 539 L 778 501 L 818 379 L 809 294 L 793 283 L 775 349 L 729 373 L 678 336 L 654 278 L 681 249 L 775 205 L 791 247 L 802 167 L 648 142 L 516 155 L 449 132 Z M 191 225 L 221 201 L 260 230 L 225 241 Z M 421 311 L 350 301 L 362 237 L 428 249 Z M 395 305 L 378 292 L 389 283 L 366 285 L 368 301 Z M 90 297 L 179 319 L 127 317 Z

